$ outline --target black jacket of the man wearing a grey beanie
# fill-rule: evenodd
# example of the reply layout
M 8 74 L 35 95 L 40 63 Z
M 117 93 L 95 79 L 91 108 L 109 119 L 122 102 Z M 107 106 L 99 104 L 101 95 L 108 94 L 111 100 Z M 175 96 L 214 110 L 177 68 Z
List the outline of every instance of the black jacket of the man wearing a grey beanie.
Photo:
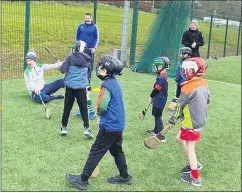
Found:
M 193 42 L 197 43 L 195 48 L 192 48 Z M 204 45 L 202 32 L 200 32 L 198 30 L 193 31 L 189 28 L 189 30 L 187 30 L 183 33 L 182 44 L 186 47 L 191 48 L 192 51 L 198 50 L 200 46 Z

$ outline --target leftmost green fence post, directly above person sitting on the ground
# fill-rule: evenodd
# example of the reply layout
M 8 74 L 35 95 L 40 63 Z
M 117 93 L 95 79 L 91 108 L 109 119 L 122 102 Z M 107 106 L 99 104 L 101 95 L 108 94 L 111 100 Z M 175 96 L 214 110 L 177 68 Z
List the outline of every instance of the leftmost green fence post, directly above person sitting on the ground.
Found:
M 30 32 L 30 0 L 25 1 L 25 33 L 24 33 L 24 58 L 29 50 L 29 32 Z M 24 70 L 27 63 L 24 59 Z

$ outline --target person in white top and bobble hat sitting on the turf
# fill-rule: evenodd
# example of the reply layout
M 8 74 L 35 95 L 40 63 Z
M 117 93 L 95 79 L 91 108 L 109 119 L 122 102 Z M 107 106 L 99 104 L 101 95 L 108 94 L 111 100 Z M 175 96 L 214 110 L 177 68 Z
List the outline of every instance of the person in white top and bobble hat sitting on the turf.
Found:
M 42 103 L 39 97 L 40 94 L 45 103 L 54 99 L 63 99 L 63 95 L 53 95 L 53 93 L 65 87 L 63 79 L 56 80 L 49 84 L 46 84 L 44 81 L 44 72 L 59 69 L 61 63 L 37 64 L 36 53 L 33 49 L 27 53 L 25 59 L 28 66 L 24 70 L 24 80 L 31 99 L 35 102 Z

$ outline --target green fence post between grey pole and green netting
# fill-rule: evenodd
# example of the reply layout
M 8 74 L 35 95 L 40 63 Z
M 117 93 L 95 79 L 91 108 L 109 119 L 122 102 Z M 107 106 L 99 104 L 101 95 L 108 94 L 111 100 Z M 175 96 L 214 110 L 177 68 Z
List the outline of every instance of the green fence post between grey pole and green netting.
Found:
M 134 0 L 132 35 L 131 35 L 131 45 L 130 45 L 130 65 L 134 65 L 135 63 L 138 16 L 139 16 L 139 1 Z

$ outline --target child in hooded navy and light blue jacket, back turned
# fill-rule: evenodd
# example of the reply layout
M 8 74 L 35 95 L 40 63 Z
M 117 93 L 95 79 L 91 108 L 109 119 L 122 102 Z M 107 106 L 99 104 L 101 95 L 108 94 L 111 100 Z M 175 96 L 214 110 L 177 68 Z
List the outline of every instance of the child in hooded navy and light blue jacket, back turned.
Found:
M 62 64 L 60 71 L 66 72 L 64 83 L 66 85 L 64 112 L 62 115 L 61 136 L 67 135 L 67 124 L 75 98 L 82 112 L 84 122 L 84 135 L 93 138 L 94 134 L 89 128 L 86 87 L 88 86 L 87 69 L 91 63 L 91 58 L 83 53 L 86 43 L 77 41 L 73 53 L 67 57 Z

